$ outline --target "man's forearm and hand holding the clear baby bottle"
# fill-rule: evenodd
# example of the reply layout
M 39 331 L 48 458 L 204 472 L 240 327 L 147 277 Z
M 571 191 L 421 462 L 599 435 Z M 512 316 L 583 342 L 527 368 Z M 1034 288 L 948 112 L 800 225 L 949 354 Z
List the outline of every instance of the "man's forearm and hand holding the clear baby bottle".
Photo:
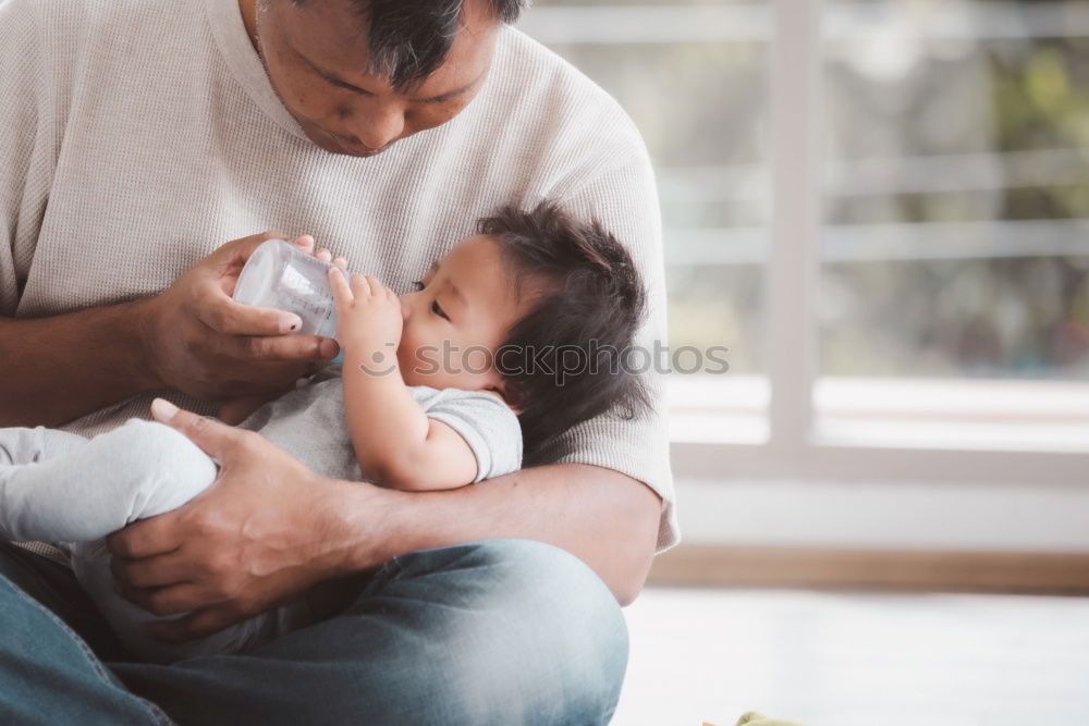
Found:
M 49 318 L 0 318 L 0 426 L 57 426 L 136 393 L 201 399 L 289 390 L 337 344 L 294 335 L 296 316 L 230 298 L 253 250 L 276 232 L 219 247 L 163 293 Z M 311 250 L 313 237 L 296 241 Z M 328 250 L 318 250 L 322 259 Z

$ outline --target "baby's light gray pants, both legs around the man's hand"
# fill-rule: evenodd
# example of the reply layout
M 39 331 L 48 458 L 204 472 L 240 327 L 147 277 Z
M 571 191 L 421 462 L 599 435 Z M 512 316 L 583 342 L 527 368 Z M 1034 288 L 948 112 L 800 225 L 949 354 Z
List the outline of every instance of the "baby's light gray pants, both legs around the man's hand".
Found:
M 72 567 L 122 642 L 149 661 L 238 652 L 305 622 L 304 602 L 200 640 L 170 645 L 144 633 L 161 619 L 113 590 L 105 537 L 175 509 L 216 479 L 216 462 L 168 426 L 130 419 L 85 439 L 37 428 L 0 429 L 0 539 L 72 543 Z

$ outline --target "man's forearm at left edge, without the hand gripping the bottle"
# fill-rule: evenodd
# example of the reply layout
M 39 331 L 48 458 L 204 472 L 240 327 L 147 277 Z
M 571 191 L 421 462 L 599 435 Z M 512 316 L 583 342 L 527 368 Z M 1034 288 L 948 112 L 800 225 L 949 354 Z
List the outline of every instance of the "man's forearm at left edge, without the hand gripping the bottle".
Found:
M 160 387 L 144 350 L 146 304 L 0 318 L 0 426 L 59 426 Z

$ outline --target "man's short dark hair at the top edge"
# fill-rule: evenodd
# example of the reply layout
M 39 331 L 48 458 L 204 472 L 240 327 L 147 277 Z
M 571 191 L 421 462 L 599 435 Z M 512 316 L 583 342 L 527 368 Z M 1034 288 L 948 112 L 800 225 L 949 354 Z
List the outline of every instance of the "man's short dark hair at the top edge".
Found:
M 318 0 L 319 2 L 323 0 Z M 514 23 L 529 0 L 484 0 L 495 17 Z M 310 0 L 292 0 L 296 5 Z M 424 81 L 442 65 L 457 35 L 463 0 L 351 0 L 368 26 L 370 73 L 395 90 Z

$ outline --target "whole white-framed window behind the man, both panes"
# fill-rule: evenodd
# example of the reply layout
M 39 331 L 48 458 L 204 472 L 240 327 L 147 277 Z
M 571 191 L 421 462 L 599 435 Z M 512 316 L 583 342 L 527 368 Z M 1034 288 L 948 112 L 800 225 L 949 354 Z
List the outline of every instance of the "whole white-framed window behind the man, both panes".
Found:
M 540 0 L 656 160 L 681 477 L 1080 481 L 1089 3 Z

